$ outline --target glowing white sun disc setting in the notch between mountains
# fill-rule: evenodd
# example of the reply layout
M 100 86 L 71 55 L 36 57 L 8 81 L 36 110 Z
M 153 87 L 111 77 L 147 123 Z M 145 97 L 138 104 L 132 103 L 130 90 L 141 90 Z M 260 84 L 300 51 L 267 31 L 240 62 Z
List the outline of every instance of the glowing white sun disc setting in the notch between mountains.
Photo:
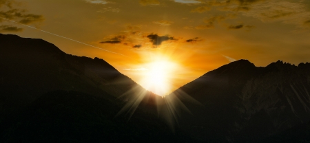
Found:
M 176 70 L 176 63 L 161 59 L 147 64 L 147 71 L 141 82 L 145 89 L 152 91 L 158 96 L 169 94 L 172 88 L 171 79 Z

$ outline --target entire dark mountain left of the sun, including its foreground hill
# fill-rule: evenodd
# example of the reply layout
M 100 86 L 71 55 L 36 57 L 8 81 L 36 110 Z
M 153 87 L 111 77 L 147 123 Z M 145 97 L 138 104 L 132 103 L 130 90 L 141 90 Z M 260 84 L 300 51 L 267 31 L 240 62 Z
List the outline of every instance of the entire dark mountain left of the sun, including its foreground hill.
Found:
M 100 58 L 0 34 L 0 142 L 189 142 L 146 91 Z

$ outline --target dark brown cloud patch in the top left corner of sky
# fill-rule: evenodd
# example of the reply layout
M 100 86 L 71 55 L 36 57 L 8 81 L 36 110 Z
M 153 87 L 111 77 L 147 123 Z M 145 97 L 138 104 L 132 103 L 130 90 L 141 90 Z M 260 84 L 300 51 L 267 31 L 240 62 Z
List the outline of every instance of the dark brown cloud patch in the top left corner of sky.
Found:
M 0 17 L 17 21 L 22 24 L 31 24 L 38 21 L 43 21 L 44 18 L 39 14 L 28 14 L 27 10 L 18 8 L 20 4 L 13 0 L 0 0 Z M 3 22 L 0 20 L 0 23 Z M 6 32 L 19 32 L 22 28 L 14 26 L 0 25 L 2 31 Z

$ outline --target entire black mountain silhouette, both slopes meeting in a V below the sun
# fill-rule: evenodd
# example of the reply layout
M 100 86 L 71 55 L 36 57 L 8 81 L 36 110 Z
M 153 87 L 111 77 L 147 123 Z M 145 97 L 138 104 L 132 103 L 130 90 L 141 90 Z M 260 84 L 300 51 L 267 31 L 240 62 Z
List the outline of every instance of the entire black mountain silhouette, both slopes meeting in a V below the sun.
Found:
M 100 58 L 0 34 L 0 142 L 308 142 L 310 63 L 223 65 L 156 96 Z

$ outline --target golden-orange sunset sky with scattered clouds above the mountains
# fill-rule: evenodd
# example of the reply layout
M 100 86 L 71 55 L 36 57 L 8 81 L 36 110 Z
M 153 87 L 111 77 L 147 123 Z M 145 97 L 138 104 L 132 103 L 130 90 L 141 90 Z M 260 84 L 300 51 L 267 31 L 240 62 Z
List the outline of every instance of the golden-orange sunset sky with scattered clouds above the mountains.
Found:
M 239 59 L 310 62 L 309 0 L 0 0 L 0 17 L 3 34 L 103 58 L 158 94 Z

